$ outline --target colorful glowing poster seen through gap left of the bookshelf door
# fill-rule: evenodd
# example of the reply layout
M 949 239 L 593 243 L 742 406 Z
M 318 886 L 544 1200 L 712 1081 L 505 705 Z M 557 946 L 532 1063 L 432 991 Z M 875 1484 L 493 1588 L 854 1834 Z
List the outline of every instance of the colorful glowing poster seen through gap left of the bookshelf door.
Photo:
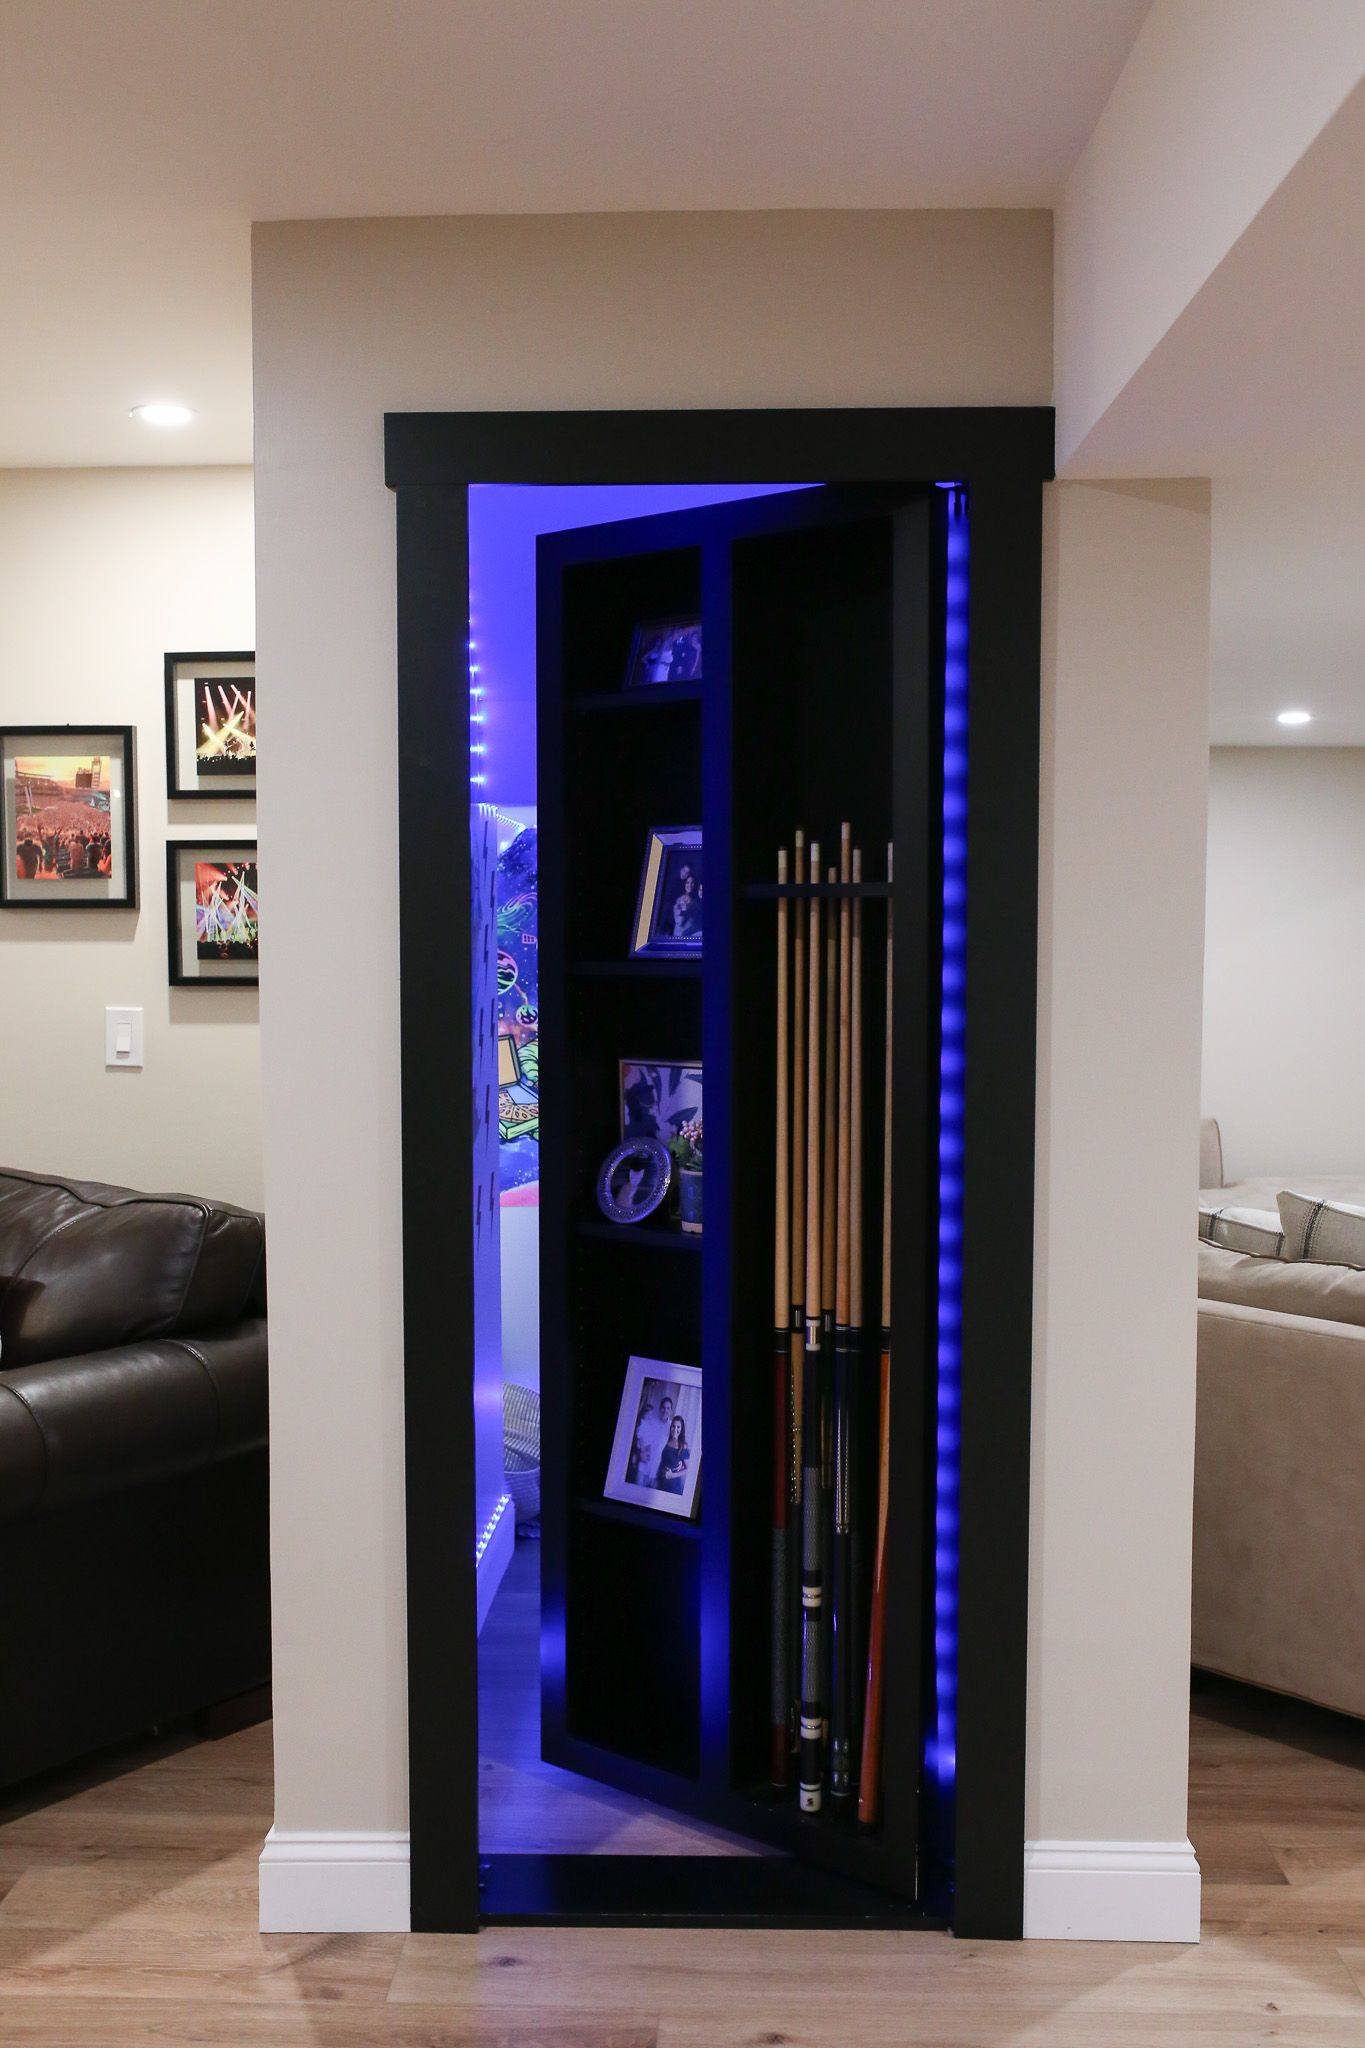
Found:
M 540 1190 L 540 1042 L 536 973 L 536 827 L 497 856 L 497 1165 L 503 1204 Z

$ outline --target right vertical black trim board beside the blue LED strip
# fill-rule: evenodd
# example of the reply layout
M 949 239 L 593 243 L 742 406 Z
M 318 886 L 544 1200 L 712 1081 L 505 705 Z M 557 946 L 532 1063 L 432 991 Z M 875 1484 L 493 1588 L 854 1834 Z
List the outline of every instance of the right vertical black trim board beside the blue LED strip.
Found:
M 970 498 L 956 1903 L 1023 1931 L 1042 492 Z

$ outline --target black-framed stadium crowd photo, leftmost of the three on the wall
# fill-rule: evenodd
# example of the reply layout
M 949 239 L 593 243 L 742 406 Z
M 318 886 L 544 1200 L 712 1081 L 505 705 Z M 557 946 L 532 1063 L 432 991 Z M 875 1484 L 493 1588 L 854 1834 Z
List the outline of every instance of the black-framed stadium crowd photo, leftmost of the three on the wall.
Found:
M 2 909 L 137 907 L 131 725 L 8 725 Z

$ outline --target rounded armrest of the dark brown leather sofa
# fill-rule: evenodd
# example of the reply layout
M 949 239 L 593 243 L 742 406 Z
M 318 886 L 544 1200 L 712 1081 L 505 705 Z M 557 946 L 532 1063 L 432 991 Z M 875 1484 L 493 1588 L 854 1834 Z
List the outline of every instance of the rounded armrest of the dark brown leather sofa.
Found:
M 0 1372 L 0 1520 L 170 1479 L 266 1442 L 266 1323 Z

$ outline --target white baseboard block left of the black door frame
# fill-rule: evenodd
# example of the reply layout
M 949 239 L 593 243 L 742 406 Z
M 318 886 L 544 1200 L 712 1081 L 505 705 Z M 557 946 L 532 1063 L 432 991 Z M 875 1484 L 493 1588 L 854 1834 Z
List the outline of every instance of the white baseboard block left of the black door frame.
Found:
M 262 1933 L 407 1933 L 407 1835 L 272 1827 L 260 1851 Z

